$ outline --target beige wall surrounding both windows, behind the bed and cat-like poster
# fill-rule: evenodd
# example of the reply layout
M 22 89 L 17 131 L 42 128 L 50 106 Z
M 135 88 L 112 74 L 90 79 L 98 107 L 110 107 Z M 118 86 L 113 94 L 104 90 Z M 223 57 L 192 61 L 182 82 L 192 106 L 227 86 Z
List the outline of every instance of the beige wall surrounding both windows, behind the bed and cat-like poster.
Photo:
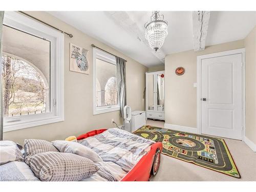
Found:
M 132 110 L 142 110 L 145 72 L 147 71 L 145 66 L 82 33 L 72 26 L 61 22 L 59 19 L 48 13 L 28 13 L 74 35 L 73 38 L 65 35 L 65 121 L 6 132 L 4 133 L 5 140 L 13 140 L 23 143 L 26 138 L 46 139 L 49 141 L 65 139 L 70 135 L 78 136 L 94 129 L 113 127 L 114 125 L 111 123 L 112 118 L 114 118 L 119 125 L 122 124 L 122 119 L 119 118 L 119 111 L 93 115 L 93 54 L 91 44 L 127 60 L 127 104 L 132 107 Z M 90 75 L 69 71 L 70 42 L 90 51 Z

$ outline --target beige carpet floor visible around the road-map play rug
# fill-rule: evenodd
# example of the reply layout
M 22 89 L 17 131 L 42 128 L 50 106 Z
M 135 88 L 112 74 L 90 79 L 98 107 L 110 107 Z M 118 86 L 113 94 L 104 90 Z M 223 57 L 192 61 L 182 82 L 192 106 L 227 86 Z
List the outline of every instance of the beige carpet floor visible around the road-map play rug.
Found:
M 148 125 L 164 127 L 164 121 L 147 120 Z M 162 155 L 159 171 L 151 181 L 256 181 L 256 153 L 243 141 L 224 138 L 241 174 L 230 177 L 198 165 Z

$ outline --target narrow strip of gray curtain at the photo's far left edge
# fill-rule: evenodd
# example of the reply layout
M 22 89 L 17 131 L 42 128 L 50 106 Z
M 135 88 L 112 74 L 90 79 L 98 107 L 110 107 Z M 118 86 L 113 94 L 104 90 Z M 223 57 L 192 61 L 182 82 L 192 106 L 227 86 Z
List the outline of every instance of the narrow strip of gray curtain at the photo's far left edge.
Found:
M 0 11 L 0 141 L 3 140 L 3 95 L 2 95 L 2 32 L 3 32 L 3 20 L 4 20 L 4 11 Z

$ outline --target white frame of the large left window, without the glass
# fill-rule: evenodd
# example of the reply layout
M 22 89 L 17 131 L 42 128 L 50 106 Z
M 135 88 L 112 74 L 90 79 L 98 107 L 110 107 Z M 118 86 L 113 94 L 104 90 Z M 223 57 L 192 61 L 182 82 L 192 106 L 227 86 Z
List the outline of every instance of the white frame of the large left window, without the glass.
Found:
M 25 129 L 64 120 L 64 35 L 44 24 L 14 11 L 5 12 L 4 24 L 51 41 L 51 111 L 15 117 L 4 117 L 4 132 Z

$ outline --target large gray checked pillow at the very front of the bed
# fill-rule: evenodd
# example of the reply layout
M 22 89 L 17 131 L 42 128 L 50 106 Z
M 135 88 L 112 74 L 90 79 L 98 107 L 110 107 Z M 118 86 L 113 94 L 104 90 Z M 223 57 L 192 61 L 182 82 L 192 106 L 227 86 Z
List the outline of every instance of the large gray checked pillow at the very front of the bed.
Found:
M 80 181 L 99 170 L 90 159 L 60 152 L 30 156 L 29 164 L 35 176 L 41 181 Z

